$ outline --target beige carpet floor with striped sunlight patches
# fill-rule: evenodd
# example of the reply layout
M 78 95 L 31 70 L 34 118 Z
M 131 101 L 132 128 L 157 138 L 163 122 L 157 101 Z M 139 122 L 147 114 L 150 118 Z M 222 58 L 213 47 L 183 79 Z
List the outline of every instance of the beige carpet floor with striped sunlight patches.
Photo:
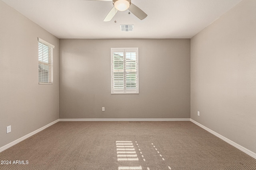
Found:
M 1 170 L 256 170 L 256 159 L 190 121 L 58 122 L 0 160 L 12 163 Z

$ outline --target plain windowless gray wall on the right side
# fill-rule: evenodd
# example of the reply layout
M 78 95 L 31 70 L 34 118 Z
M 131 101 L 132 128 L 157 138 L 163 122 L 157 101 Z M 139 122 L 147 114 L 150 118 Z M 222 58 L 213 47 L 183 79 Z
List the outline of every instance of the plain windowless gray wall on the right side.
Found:
M 191 39 L 191 118 L 254 153 L 255 9 L 244 0 Z

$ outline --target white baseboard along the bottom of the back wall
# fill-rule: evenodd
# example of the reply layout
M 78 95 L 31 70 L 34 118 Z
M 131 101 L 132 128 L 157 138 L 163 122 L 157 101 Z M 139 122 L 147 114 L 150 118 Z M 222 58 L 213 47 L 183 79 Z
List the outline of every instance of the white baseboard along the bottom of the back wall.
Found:
M 190 118 L 174 119 L 59 119 L 60 121 L 190 121 Z

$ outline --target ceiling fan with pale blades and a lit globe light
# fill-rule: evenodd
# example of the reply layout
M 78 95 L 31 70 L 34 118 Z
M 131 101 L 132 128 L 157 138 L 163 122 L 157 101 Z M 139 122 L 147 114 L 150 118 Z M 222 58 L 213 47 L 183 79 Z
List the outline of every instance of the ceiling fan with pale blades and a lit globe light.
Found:
M 112 1 L 114 7 L 108 12 L 108 15 L 105 17 L 103 21 L 110 21 L 116 15 L 118 11 L 130 10 L 132 14 L 138 17 L 140 20 L 143 20 L 148 15 L 143 12 L 136 5 L 131 3 L 131 0 L 95 0 L 95 1 Z

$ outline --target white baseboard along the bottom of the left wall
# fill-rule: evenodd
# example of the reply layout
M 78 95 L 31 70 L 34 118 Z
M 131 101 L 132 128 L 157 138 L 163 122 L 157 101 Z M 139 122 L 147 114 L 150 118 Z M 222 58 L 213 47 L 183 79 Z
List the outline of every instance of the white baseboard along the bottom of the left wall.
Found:
M 0 152 L 2 152 L 2 151 L 4 151 L 4 150 L 6 150 L 6 149 L 12 147 L 13 145 L 16 145 L 17 143 L 19 143 L 19 142 L 21 142 L 21 141 L 27 139 L 28 137 L 31 137 L 32 135 L 34 135 L 34 134 L 36 134 L 36 133 L 38 133 L 38 132 L 40 132 L 40 131 L 46 129 L 47 127 L 50 127 L 51 125 L 57 123 L 58 121 L 59 121 L 59 119 L 57 119 L 56 121 L 53 121 L 52 123 L 49 123 L 48 125 L 45 125 L 44 127 L 41 127 L 41 128 L 39 128 L 39 129 L 35 130 L 35 131 L 29 133 L 28 135 L 25 135 L 25 136 L 23 136 L 23 137 L 21 137 L 21 138 L 15 140 L 15 141 L 11 142 L 11 143 L 8 143 L 7 145 L 4 145 L 3 147 L 0 148 Z

